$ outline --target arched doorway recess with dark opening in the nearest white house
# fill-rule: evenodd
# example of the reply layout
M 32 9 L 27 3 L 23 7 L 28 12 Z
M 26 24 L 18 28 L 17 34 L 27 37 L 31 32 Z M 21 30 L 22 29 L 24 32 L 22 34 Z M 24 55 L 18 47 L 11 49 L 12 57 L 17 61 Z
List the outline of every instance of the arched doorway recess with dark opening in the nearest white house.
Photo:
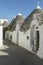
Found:
M 30 47 L 33 52 L 37 53 L 39 49 L 39 27 L 33 25 L 30 31 Z

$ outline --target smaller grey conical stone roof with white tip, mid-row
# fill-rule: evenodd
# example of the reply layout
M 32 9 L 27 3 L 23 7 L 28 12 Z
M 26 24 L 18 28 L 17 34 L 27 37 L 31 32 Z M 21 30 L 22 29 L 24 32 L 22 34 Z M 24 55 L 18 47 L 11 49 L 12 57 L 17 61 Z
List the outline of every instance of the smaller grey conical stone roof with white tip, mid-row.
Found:
M 15 30 L 16 25 L 19 24 L 19 26 L 21 27 L 23 22 L 24 22 L 24 17 L 19 13 L 16 17 L 13 18 L 13 20 L 9 24 L 9 27 L 11 28 L 11 30 Z

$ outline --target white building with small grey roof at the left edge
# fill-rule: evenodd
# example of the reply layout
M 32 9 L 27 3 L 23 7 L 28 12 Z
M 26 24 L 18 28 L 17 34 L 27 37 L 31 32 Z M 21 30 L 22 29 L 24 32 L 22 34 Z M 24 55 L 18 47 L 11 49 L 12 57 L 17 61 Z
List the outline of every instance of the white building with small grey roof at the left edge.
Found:
M 7 19 L 0 19 L 0 48 L 3 48 L 3 28 L 8 26 Z

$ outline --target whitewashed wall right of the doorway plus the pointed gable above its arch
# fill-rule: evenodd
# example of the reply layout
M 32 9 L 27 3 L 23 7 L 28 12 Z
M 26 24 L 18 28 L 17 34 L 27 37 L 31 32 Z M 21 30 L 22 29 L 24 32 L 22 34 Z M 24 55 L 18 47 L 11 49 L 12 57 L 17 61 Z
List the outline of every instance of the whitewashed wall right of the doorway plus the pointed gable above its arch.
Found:
M 40 40 L 39 40 L 39 50 L 37 51 L 37 55 L 40 57 L 40 58 L 43 58 L 43 24 L 42 25 L 39 25 L 38 21 L 36 19 L 34 19 L 32 22 L 31 22 L 31 26 L 32 25 L 36 25 L 36 27 L 38 26 L 39 27 L 39 35 L 40 35 Z

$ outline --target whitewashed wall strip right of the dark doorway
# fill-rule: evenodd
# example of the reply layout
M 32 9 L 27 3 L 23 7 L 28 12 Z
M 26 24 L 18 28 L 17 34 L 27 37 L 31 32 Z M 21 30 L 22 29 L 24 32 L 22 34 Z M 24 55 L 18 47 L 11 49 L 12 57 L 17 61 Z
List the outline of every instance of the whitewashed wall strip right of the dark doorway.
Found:
M 39 27 L 39 33 L 40 33 L 40 45 L 39 45 L 39 51 L 37 55 L 40 58 L 43 58 L 43 24 Z

